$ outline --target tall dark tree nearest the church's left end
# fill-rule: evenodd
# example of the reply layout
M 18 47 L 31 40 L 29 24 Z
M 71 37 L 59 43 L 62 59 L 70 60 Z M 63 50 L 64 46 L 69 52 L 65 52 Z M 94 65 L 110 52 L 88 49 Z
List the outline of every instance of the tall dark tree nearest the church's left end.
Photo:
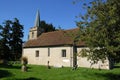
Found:
M 22 38 L 23 38 L 23 26 L 20 24 L 17 18 L 12 22 L 11 27 L 11 54 L 13 55 L 13 60 L 20 59 L 22 55 Z

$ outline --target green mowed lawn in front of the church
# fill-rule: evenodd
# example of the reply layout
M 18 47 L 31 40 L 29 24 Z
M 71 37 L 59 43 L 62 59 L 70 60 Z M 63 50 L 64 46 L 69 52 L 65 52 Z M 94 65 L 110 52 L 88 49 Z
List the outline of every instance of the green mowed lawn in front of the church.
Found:
M 120 80 L 120 66 L 112 70 L 89 68 L 51 68 L 28 65 L 28 71 L 22 72 L 21 65 L 0 65 L 0 80 Z

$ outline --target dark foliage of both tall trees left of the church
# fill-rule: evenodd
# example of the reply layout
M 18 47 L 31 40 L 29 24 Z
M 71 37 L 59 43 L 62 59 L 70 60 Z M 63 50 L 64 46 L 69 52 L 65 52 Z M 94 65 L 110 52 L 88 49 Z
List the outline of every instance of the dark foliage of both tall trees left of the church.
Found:
M 23 26 L 17 18 L 0 26 L 0 59 L 17 60 L 22 54 Z

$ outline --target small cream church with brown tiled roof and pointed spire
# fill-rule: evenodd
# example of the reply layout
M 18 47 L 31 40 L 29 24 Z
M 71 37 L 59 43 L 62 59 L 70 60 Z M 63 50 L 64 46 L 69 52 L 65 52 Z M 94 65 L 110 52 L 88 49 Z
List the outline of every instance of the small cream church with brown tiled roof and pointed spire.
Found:
M 91 65 L 86 57 L 75 56 L 83 48 L 84 42 L 77 42 L 74 46 L 74 35 L 79 28 L 58 30 L 44 33 L 40 27 L 40 14 L 36 14 L 35 25 L 30 28 L 28 41 L 23 46 L 22 56 L 28 58 L 28 64 L 50 65 L 53 67 L 87 67 L 110 69 L 110 62 L 99 61 Z M 72 35 L 72 36 L 71 36 Z

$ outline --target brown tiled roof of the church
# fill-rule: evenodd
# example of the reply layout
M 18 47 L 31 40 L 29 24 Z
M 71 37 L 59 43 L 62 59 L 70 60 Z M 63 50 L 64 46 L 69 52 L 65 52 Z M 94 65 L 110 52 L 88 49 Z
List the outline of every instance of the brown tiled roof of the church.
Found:
M 73 36 L 77 35 L 78 31 L 79 28 L 42 33 L 37 39 L 28 40 L 24 47 L 72 45 Z M 77 45 L 83 46 L 84 43 L 78 42 Z

